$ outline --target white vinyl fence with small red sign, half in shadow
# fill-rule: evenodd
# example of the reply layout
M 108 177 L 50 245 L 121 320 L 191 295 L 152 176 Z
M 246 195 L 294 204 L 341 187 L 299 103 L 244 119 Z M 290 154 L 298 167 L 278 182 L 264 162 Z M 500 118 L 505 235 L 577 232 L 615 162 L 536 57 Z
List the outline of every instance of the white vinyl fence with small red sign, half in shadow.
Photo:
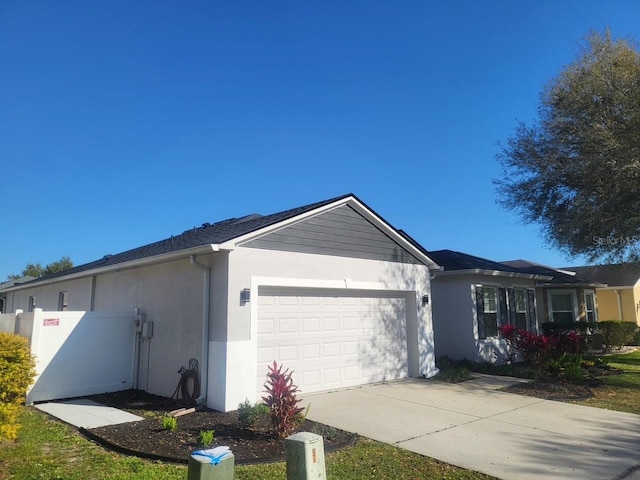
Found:
M 13 315 L 13 325 L 7 315 Z M 28 314 L 0 315 L 0 330 L 31 339 L 36 377 L 27 393 L 28 405 L 133 387 L 134 312 L 37 308 Z

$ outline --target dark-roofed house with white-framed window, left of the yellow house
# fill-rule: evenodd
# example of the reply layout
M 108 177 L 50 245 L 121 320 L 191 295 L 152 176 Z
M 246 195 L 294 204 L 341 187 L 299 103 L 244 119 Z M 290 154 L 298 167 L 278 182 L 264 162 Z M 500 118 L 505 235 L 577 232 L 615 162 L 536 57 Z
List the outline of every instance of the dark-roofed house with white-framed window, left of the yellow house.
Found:
M 571 323 L 597 322 L 596 289 L 605 284 L 582 278 L 570 270 L 561 270 L 529 262 L 512 260 L 501 262 L 534 275 L 550 276 L 551 280 L 537 284 L 538 322 Z

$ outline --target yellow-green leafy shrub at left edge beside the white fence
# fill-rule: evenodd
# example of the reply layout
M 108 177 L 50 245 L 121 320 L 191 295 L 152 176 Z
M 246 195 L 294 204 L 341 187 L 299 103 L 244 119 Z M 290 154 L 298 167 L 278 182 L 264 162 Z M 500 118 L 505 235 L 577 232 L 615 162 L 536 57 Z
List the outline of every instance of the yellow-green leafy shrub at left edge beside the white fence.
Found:
M 0 440 L 17 437 L 18 415 L 34 375 L 29 340 L 0 332 Z

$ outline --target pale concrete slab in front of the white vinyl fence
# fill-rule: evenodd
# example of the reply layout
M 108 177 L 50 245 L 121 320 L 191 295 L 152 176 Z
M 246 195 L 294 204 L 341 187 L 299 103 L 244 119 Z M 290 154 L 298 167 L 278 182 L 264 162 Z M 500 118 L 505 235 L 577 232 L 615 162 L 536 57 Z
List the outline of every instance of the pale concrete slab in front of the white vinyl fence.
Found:
M 78 428 L 97 428 L 142 420 L 137 415 L 86 398 L 38 403 L 34 407 Z

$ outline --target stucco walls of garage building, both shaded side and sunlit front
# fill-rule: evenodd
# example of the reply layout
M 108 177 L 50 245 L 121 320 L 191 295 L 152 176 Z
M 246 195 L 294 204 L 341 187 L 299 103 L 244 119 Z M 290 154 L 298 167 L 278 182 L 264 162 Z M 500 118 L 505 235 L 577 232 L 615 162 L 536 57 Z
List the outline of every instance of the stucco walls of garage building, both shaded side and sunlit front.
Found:
M 303 253 L 236 248 L 200 255 L 211 268 L 209 311 L 209 361 L 202 355 L 204 272 L 188 257 L 95 277 L 95 311 L 122 312 L 139 308 L 154 322 L 150 340 L 140 346 L 138 387 L 158 395 L 171 395 L 179 381 L 179 367 L 196 358 L 201 373 L 208 370 L 207 405 L 234 410 L 246 398 L 257 399 L 257 302 L 241 305 L 240 291 L 260 285 L 354 288 L 401 292 L 411 304 L 407 324 L 415 348 L 409 348 L 410 374 L 434 375 L 435 353 L 431 320 L 430 272 L 424 265 Z M 60 291 L 69 294 L 69 310 L 88 310 L 91 275 L 12 292 L 15 308 L 26 310 L 30 295 L 37 306 L 56 310 Z M 428 295 L 429 305 L 418 306 L 417 297 Z M 208 368 L 207 368 L 208 367 Z

